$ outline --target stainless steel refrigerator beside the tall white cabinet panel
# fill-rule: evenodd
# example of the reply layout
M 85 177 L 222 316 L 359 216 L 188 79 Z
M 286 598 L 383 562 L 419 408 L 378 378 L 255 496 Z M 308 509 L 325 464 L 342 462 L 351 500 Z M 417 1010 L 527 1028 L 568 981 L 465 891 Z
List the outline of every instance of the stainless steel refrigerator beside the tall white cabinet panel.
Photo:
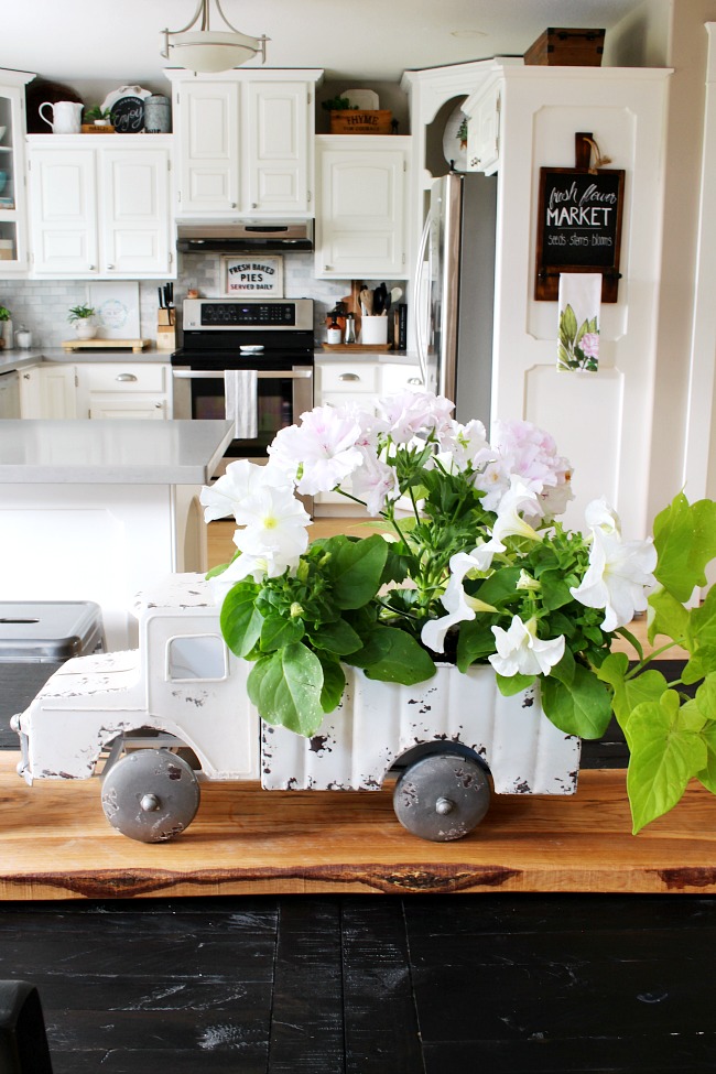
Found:
M 489 433 L 497 177 L 435 180 L 415 273 L 415 345 L 426 387 Z

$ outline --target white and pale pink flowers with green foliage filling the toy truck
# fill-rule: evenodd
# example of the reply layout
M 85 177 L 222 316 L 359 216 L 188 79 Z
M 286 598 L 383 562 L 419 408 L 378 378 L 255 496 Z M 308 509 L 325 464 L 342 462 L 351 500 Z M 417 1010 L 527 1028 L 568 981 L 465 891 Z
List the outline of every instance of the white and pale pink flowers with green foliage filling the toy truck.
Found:
M 571 466 L 528 422 L 460 425 L 430 393 L 382 400 L 378 416 L 316 408 L 282 430 L 265 467 L 231 464 L 204 489 L 207 521 L 232 513 L 229 564 L 211 572 L 221 630 L 253 661 L 251 701 L 270 724 L 315 735 L 339 704 L 345 666 L 413 684 L 454 664 L 491 669 L 505 696 L 539 692 L 566 736 L 599 738 L 612 713 L 631 758 L 638 832 L 670 810 L 692 778 L 716 792 L 716 596 L 687 607 L 716 555 L 716 503 L 683 495 L 654 536 L 625 541 L 604 499 L 584 532 L 558 520 Z M 294 493 L 337 490 L 365 505 L 380 532 L 308 544 Z M 649 608 L 646 657 L 629 630 Z M 634 650 L 611 652 L 615 636 Z M 681 646 L 682 677 L 650 666 Z M 695 697 L 680 692 L 697 685 Z

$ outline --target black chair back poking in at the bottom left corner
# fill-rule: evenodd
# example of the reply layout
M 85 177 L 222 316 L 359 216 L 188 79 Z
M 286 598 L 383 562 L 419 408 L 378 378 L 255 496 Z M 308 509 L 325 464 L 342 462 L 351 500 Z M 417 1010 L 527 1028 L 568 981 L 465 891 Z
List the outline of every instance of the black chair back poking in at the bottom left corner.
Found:
M 0 1074 L 52 1074 L 40 995 L 26 980 L 0 980 Z

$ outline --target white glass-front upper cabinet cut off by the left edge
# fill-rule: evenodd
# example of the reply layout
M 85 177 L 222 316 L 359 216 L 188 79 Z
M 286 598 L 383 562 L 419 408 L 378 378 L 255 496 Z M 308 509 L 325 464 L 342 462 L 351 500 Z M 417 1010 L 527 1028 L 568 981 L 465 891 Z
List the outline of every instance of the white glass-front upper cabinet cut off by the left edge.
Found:
M 25 86 L 26 72 L 0 72 L 0 279 L 26 275 Z

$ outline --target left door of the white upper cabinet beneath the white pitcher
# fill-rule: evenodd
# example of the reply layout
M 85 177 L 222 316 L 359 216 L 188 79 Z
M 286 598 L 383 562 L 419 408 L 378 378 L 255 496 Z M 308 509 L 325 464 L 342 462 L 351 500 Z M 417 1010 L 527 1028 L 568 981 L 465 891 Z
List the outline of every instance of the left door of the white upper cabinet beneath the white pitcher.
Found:
M 97 189 L 91 149 L 33 149 L 30 210 L 34 272 L 87 275 L 97 271 Z

